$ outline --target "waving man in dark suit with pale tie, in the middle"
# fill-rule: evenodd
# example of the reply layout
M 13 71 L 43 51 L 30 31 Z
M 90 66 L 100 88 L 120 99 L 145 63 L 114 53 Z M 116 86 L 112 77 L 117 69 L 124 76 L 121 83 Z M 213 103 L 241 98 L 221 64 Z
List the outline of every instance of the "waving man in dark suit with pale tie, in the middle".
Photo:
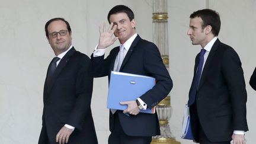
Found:
M 160 135 L 157 114 L 139 113 L 152 108 L 164 99 L 172 88 L 172 80 L 155 44 L 143 40 L 135 31 L 132 10 L 124 5 L 113 7 L 108 13 L 108 30 L 100 27 L 100 40 L 91 56 L 95 77 L 110 76 L 111 71 L 152 76 L 156 85 L 135 101 L 124 101 L 124 111 L 110 111 L 110 144 L 149 144 L 152 136 Z M 111 36 L 116 36 L 112 38 Z M 105 48 L 119 39 L 120 45 L 104 59 Z M 121 49 L 121 50 L 120 50 Z M 128 113 L 130 116 L 126 116 Z

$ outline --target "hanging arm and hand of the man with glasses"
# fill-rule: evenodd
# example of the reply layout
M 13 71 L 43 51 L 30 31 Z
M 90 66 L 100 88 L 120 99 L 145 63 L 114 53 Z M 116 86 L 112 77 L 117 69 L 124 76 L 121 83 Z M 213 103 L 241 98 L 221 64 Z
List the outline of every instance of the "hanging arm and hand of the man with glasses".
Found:
M 78 70 L 76 70 L 75 91 L 73 91 L 75 92 L 76 100 L 67 123 L 56 135 L 56 142 L 59 143 L 68 143 L 69 136 L 75 128 L 82 130 L 84 117 L 88 113 L 88 110 L 90 110 L 93 85 L 93 78 L 89 72 L 91 63 L 86 56 L 81 57 L 78 60 L 80 65 L 78 65 Z

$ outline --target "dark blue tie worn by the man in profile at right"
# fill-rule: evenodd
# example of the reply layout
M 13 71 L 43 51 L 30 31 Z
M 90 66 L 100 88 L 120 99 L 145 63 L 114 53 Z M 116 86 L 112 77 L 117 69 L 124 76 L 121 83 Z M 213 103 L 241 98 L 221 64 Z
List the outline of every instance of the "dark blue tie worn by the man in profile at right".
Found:
M 188 107 L 194 103 L 196 98 L 197 88 L 199 87 L 201 72 L 203 69 L 203 62 L 204 62 L 204 53 L 206 52 L 205 49 L 201 49 L 200 56 L 199 56 L 199 65 L 197 66 L 196 76 L 194 76 L 191 91 L 189 93 L 189 100 L 188 100 Z

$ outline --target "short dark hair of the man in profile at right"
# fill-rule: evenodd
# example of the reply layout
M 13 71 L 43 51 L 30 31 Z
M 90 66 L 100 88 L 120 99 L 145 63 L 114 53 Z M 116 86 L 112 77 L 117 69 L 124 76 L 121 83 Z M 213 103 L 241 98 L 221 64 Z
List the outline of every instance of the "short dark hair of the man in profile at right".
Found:
M 201 9 L 193 12 L 193 14 L 190 15 L 190 18 L 196 17 L 200 17 L 203 20 L 203 24 L 201 24 L 202 28 L 210 25 L 212 27 L 213 35 L 218 36 L 221 25 L 218 12 L 212 9 Z

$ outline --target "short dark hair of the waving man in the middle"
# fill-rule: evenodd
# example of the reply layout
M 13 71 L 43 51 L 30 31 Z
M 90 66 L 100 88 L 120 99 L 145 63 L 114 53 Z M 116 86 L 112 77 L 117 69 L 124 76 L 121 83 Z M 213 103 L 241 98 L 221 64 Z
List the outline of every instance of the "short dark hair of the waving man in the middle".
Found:
M 130 21 L 132 21 L 134 19 L 134 14 L 132 9 L 130 9 L 129 7 L 125 6 L 125 5 L 116 5 L 115 7 L 113 7 L 112 9 L 110 9 L 110 11 L 108 12 L 108 23 L 110 23 L 110 15 L 112 14 L 117 14 L 120 12 L 124 12 L 127 14 L 127 16 L 129 17 Z

